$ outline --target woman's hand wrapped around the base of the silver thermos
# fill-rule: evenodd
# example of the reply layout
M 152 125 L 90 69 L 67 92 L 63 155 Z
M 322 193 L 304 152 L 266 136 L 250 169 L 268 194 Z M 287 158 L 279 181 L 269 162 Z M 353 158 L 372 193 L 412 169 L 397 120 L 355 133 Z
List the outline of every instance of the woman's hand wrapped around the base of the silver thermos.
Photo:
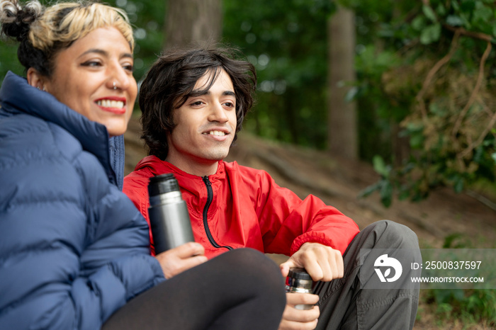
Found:
M 204 254 L 205 249 L 201 244 L 189 242 L 157 254 L 155 258 L 162 266 L 165 278 L 171 278 L 207 261 L 208 259 Z

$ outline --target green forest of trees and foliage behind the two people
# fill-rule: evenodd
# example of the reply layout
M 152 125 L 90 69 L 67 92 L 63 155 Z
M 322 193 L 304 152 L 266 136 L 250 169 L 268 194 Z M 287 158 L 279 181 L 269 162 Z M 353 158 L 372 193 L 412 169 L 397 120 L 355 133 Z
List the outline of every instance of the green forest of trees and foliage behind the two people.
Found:
M 168 47 L 233 45 L 257 68 L 247 132 L 372 164 L 361 197 L 385 207 L 447 187 L 496 212 L 496 1 L 106 2 L 135 26 L 137 81 Z M 0 42 L 0 79 L 22 75 L 16 44 Z M 494 290 L 424 299 L 441 322 L 496 326 Z

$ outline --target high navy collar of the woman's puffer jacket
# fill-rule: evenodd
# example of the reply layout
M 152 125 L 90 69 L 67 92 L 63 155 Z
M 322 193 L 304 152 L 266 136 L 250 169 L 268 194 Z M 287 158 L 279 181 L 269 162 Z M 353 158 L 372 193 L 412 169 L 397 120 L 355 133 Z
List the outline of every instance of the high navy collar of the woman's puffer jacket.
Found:
M 10 71 L 0 88 L 0 104 L 1 112 L 27 113 L 67 130 L 79 140 L 84 150 L 98 158 L 111 183 L 122 188 L 123 136 L 109 138 L 104 125 L 93 122 L 60 103 L 50 93 L 35 89 L 25 78 Z

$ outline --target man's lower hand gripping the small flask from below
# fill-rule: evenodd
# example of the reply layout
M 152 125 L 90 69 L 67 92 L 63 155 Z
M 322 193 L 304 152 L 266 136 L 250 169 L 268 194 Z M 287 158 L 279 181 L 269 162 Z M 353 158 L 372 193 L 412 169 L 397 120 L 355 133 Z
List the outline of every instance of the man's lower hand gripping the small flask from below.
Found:
M 310 330 L 317 326 L 317 318 L 320 315 L 319 307 L 301 310 L 295 309 L 295 305 L 315 305 L 319 301 L 318 295 L 311 293 L 286 293 L 286 308 L 283 312 L 283 319 L 279 324 L 279 330 Z

